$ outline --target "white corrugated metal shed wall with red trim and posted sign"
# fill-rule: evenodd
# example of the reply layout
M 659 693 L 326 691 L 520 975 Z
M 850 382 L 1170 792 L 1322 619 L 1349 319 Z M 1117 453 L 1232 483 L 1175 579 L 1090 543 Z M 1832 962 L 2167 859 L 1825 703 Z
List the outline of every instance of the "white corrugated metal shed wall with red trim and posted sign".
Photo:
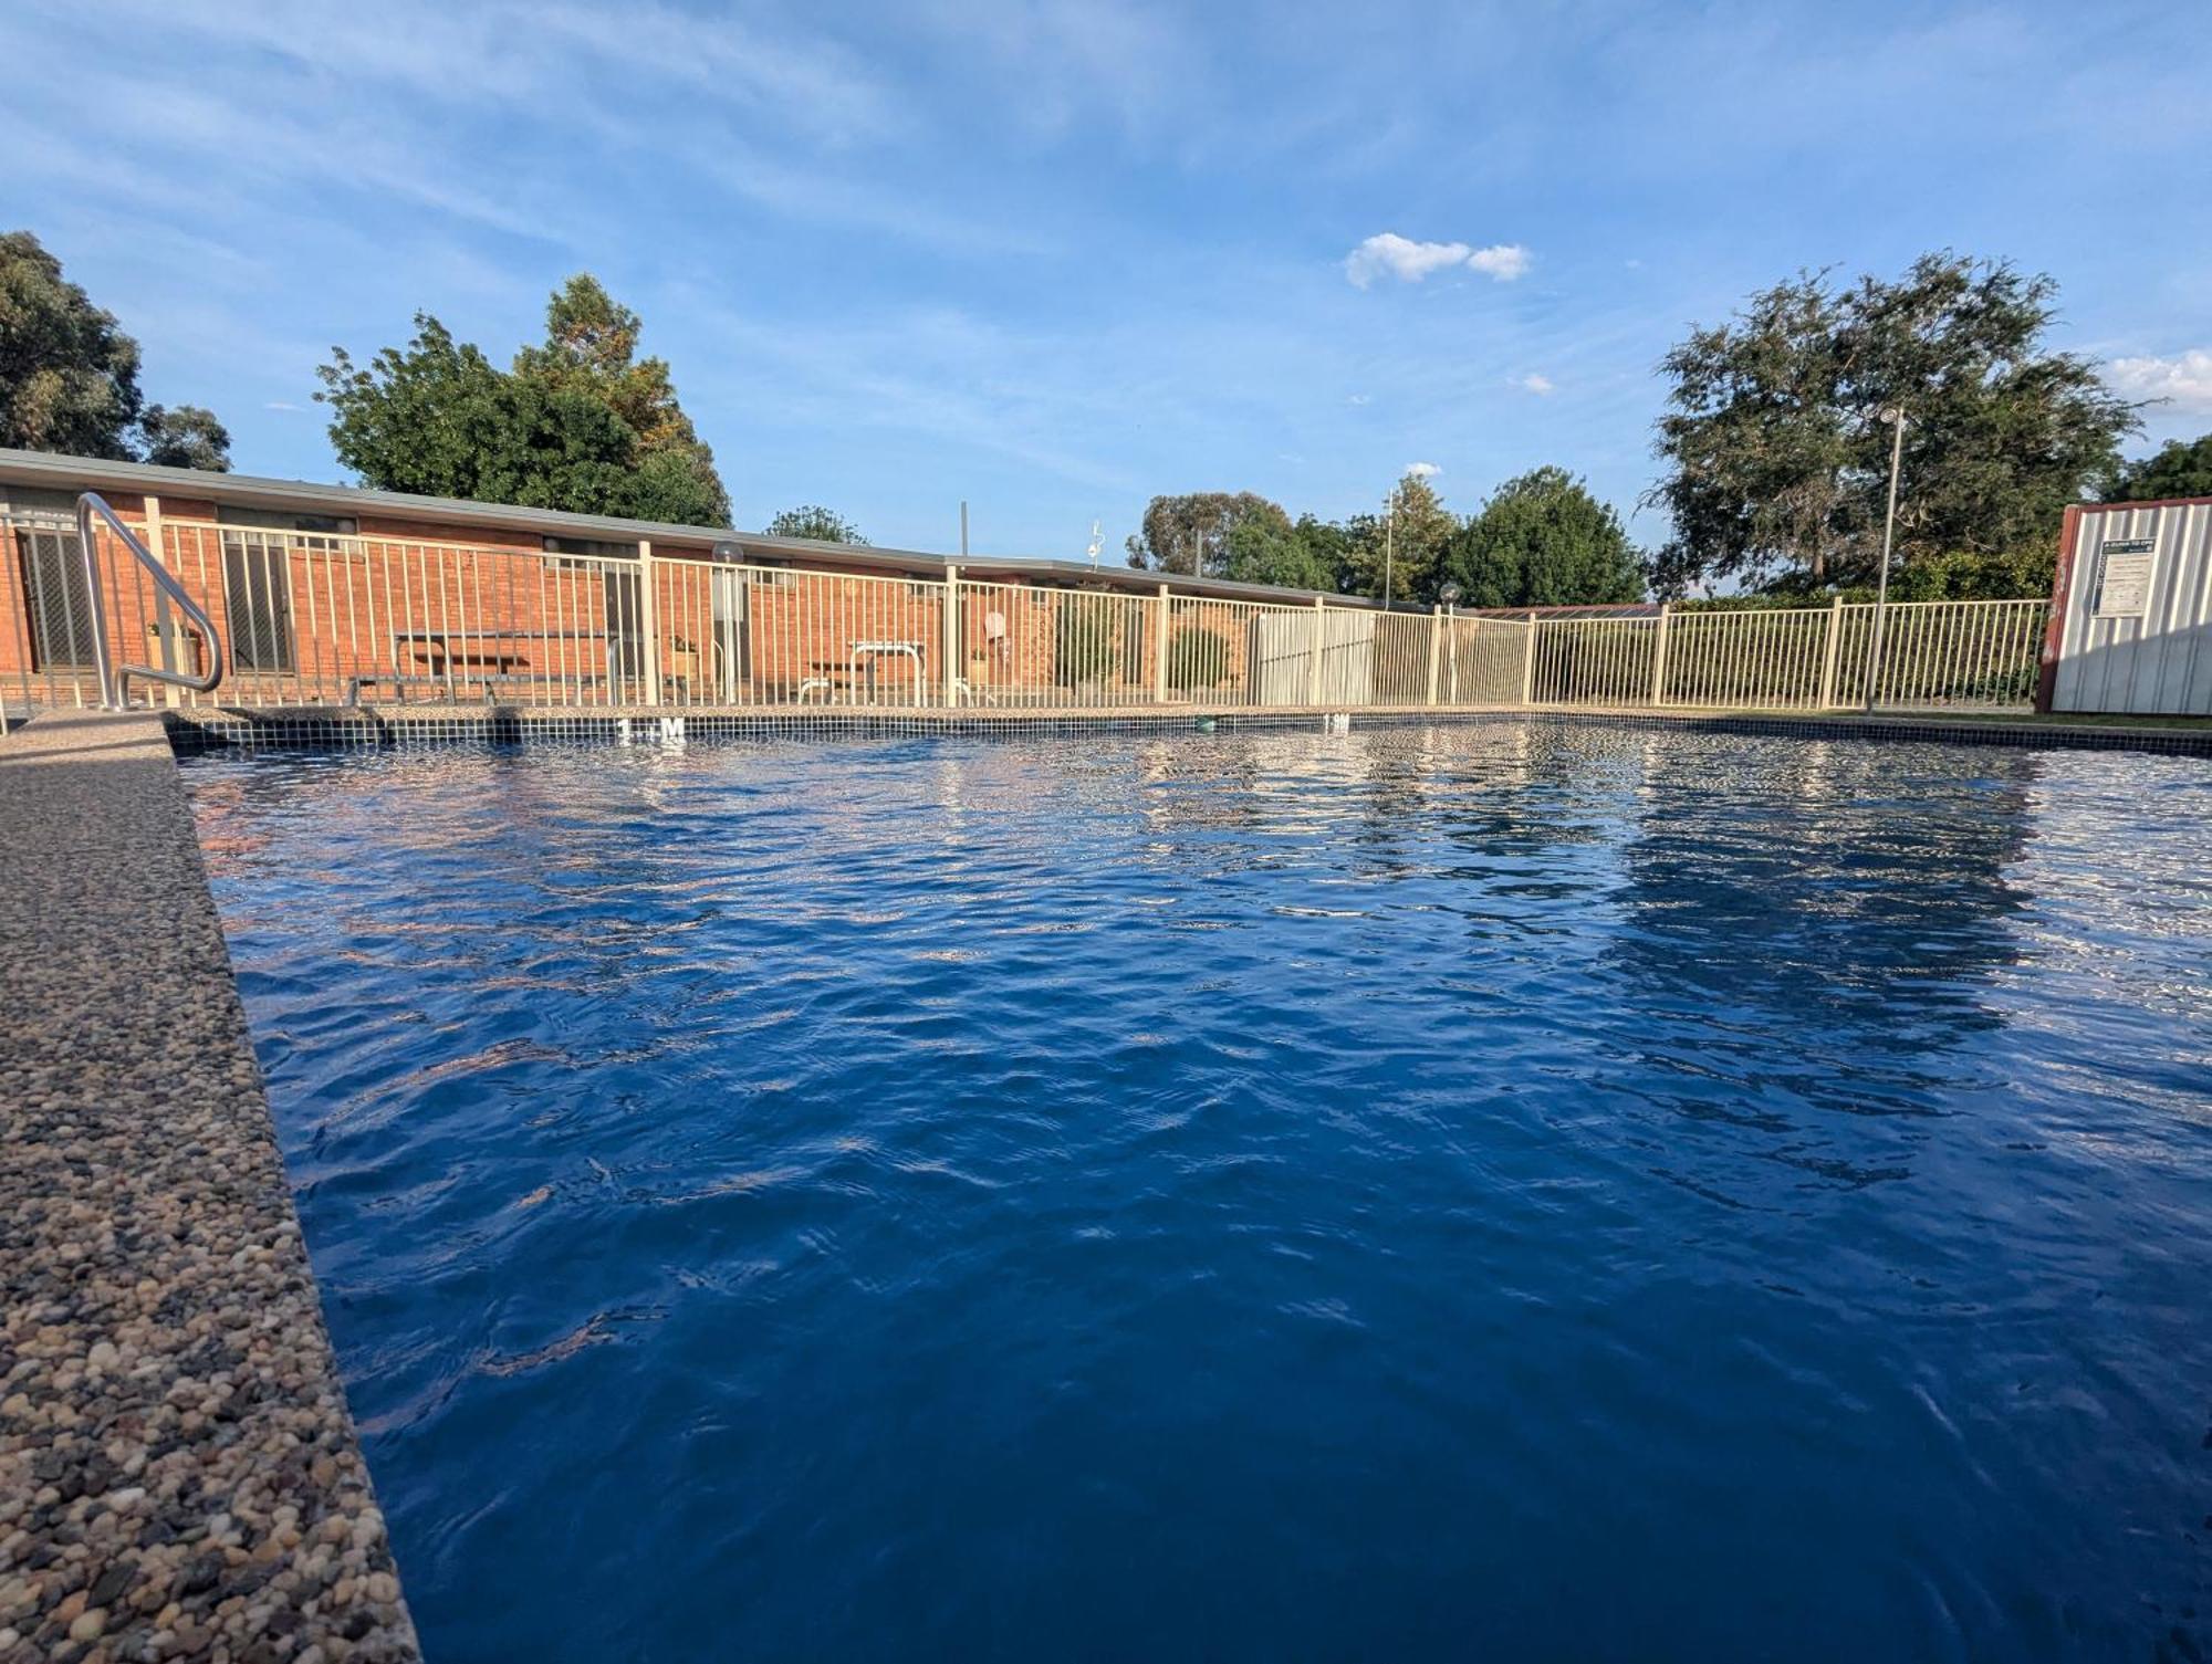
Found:
M 2212 715 L 2212 502 L 2068 513 L 2053 710 Z

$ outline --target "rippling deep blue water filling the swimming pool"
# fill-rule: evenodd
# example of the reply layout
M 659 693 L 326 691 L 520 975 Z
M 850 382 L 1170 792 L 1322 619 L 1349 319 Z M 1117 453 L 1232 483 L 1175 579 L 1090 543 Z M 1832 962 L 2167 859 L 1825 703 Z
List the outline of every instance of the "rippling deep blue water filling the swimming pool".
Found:
M 2197 1660 L 2212 770 L 190 766 L 440 1660 Z

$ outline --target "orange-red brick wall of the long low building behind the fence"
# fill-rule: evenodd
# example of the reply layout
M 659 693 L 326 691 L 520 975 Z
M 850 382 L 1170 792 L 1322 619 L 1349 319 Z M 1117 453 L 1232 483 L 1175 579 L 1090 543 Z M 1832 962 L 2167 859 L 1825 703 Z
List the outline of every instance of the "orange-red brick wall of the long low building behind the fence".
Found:
M 144 502 L 124 493 L 111 502 L 144 535 Z M 535 533 L 429 520 L 365 518 L 358 535 L 336 538 L 217 527 L 212 502 L 177 498 L 161 502 L 161 520 L 168 569 L 232 648 L 219 701 L 336 701 L 354 677 L 380 677 L 365 697 L 385 699 L 394 673 L 418 682 L 409 697 L 436 693 L 429 684 L 445 673 L 462 697 L 484 697 L 489 686 L 502 701 L 637 701 L 650 686 L 653 666 L 637 662 L 641 646 L 617 653 L 617 635 L 644 639 L 644 589 L 637 578 L 617 578 L 613 586 L 606 578 L 637 573 L 633 562 L 546 555 Z M 106 542 L 104 593 L 117 659 L 159 664 L 153 584 Z M 226 582 L 226 551 L 237 584 Z M 741 662 L 726 668 L 730 655 L 721 653 L 712 624 L 714 580 L 697 560 L 703 555 L 706 544 L 655 547 L 650 604 L 664 697 L 719 701 L 726 675 L 739 677 L 734 693 L 743 701 L 787 701 L 805 684 L 816 684 L 807 688 L 812 699 L 843 697 L 849 684 L 865 686 L 869 657 L 876 697 L 909 697 L 909 657 L 883 653 L 854 662 L 854 642 L 876 639 L 911 642 L 922 697 L 942 699 L 947 642 L 938 582 L 745 569 Z M 259 606 L 246 606 L 248 591 Z M 0 679 L 18 697 L 22 613 L 22 562 L 9 538 L 0 547 Z M 1066 624 L 1064 613 L 1079 622 Z M 1002 631 L 991 631 L 991 615 L 1000 615 Z M 991 573 L 982 584 L 962 584 L 951 668 L 989 699 L 1146 699 L 1168 639 L 1201 626 L 1221 637 L 1225 670 L 1219 688 L 1197 697 L 1221 699 L 1248 682 L 1248 617 L 1239 606 L 1186 600 L 1164 633 L 1150 595 L 1064 591 Z M 1084 648 L 1088 662 L 1062 666 L 1060 655 L 1071 646 Z M 88 670 L 82 686 L 95 697 Z M 33 695 L 46 697 L 44 686 L 33 686 Z

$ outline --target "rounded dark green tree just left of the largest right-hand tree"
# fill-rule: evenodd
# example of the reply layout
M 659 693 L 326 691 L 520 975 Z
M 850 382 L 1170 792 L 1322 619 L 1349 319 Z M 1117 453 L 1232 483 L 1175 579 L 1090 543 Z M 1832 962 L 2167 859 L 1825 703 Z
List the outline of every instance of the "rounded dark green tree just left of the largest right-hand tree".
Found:
M 1444 575 L 1467 606 L 1608 606 L 1644 600 L 1644 566 L 1610 507 L 1559 467 L 1500 485 L 1451 538 Z

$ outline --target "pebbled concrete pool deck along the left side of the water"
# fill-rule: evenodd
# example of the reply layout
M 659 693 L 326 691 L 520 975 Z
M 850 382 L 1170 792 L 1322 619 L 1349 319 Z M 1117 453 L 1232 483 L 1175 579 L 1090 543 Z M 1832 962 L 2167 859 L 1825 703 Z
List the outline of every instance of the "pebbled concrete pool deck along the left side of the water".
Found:
M 0 739 L 0 1660 L 416 1660 L 177 763 Z

